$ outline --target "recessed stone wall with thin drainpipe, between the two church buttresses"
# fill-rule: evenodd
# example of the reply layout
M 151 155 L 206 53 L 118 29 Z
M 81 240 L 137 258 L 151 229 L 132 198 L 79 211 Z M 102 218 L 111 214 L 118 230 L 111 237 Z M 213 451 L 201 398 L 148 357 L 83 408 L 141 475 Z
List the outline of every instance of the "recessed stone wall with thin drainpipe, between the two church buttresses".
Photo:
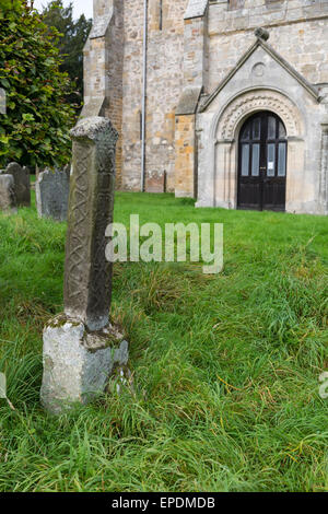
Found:
M 174 190 L 175 109 L 183 86 L 184 14 L 188 0 L 149 1 L 147 87 L 147 180 L 167 177 Z M 125 1 L 122 187 L 139 189 L 141 177 L 143 0 Z M 159 190 L 163 180 L 159 182 Z M 163 189 L 162 189 L 163 190 Z

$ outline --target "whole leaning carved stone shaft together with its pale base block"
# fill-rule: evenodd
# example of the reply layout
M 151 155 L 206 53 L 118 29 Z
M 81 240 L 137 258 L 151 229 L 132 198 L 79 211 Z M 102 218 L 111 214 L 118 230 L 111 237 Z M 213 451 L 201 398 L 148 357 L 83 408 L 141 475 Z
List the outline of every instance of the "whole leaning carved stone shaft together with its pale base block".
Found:
M 106 388 L 128 343 L 109 324 L 112 265 L 105 233 L 113 221 L 117 132 L 106 118 L 72 130 L 73 163 L 65 267 L 65 313 L 44 330 L 42 402 L 60 413 Z

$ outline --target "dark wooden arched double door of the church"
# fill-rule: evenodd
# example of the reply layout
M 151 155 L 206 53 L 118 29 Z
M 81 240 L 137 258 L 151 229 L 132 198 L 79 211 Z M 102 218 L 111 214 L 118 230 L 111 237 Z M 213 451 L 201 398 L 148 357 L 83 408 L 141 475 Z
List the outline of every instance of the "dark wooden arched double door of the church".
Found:
M 286 151 L 285 128 L 276 114 L 247 119 L 239 136 L 239 209 L 285 210 Z

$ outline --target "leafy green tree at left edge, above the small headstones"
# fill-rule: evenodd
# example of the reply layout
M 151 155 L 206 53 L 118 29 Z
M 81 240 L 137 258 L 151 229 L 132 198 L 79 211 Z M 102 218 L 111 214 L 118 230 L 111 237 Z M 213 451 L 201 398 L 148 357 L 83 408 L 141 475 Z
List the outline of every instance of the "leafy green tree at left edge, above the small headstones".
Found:
M 0 87 L 7 94 L 0 167 L 11 161 L 51 167 L 70 160 L 75 112 L 65 102 L 71 85 L 59 70 L 57 38 L 27 1 L 0 0 Z

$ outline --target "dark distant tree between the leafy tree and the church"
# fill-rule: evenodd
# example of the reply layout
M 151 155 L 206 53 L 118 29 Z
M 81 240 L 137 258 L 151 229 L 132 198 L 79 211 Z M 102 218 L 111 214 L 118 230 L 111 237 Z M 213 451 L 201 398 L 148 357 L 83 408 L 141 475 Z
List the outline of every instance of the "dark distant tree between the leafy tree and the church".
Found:
M 92 20 L 82 14 L 79 20 L 73 19 L 73 3 L 67 8 L 62 0 L 52 0 L 43 11 L 43 21 L 51 31 L 56 27 L 60 33 L 58 48 L 62 58 L 60 70 L 66 71 L 72 83 L 75 84 L 75 94 L 70 102 L 81 104 L 83 100 L 83 47 L 92 27 Z

